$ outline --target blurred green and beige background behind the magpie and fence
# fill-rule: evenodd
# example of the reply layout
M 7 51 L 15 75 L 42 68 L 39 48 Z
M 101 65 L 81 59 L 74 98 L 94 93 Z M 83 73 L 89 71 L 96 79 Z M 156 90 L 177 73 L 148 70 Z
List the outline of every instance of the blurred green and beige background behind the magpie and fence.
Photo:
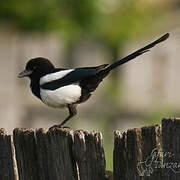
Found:
M 67 123 L 101 131 L 112 169 L 113 131 L 180 116 L 179 0 L 6 0 L 0 3 L 0 127 L 48 128 L 68 111 L 35 98 L 26 62 L 49 58 L 57 67 L 112 63 L 170 32 L 150 52 L 111 73 Z

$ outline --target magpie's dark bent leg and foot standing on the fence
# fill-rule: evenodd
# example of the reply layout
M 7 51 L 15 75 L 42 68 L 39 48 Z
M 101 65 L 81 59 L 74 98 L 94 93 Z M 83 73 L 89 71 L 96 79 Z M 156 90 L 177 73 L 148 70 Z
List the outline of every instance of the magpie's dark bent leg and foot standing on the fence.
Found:
M 76 106 L 74 104 L 68 104 L 67 105 L 68 110 L 69 110 L 69 116 L 61 123 L 58 125 L 54 125 L 49 128 L 49 130 L 52 130 L 54 128 L 62 127 L 69 119 L 71 119 L 73 116 L 77 114 Z

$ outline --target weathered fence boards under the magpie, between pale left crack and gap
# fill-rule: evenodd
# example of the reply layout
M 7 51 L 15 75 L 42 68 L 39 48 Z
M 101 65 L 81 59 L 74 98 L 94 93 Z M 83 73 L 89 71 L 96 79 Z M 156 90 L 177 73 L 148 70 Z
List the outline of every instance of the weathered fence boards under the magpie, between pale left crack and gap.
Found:
M 101 133 L 17 128 L 13 140 L 19 180 L 105 180 Z

